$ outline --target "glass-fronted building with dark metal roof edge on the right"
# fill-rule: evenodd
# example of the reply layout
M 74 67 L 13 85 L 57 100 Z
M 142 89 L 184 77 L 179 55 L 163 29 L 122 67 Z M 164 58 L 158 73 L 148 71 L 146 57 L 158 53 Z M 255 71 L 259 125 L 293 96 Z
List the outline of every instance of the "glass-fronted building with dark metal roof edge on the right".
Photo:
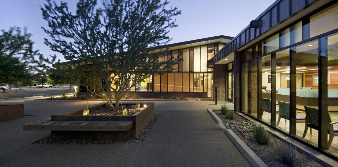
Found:
M 218 100 L 335 159 L 337 2 L 277 0 L 208 61 Z

